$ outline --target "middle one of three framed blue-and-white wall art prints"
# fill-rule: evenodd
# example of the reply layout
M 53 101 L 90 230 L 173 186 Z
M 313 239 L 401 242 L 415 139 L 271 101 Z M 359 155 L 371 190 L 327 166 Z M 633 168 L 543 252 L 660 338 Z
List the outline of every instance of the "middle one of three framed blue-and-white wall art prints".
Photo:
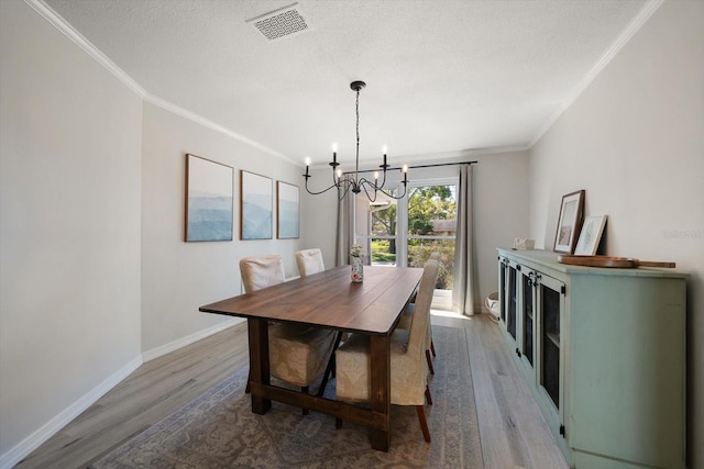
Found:
M 240 239 L 271 239 L 273 226 L 272 179 L 240 171 Z

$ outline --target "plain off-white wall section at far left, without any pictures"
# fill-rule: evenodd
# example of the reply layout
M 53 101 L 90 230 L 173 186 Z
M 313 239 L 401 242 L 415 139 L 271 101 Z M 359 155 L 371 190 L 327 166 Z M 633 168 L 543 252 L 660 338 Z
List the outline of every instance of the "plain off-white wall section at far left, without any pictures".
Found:
M 2 466 L 141 362 L 142 100 L 21 1 L 0 57 Z

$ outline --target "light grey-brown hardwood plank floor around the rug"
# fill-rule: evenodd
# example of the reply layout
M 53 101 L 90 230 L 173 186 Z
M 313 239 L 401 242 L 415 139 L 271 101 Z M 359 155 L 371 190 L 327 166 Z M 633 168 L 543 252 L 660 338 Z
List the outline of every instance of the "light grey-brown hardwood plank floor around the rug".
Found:
M 468 331 L 484 467 L 566 468 L 498 326 L 440 312 L 432 324 Z M 246 366 L 246 340 L 242 323 L 144 364 L 16 468 L 87 467 Z

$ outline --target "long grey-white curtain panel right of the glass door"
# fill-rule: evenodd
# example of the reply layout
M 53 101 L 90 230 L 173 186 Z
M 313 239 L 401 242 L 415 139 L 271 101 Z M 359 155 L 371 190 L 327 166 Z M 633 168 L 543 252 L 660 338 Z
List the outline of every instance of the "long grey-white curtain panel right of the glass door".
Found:
M 476 310 L 476 266 L 472 215 L 472 165 L 460 165 L 458 187 L 458 231 L 454 247 L 452 309 L 472 315 Z

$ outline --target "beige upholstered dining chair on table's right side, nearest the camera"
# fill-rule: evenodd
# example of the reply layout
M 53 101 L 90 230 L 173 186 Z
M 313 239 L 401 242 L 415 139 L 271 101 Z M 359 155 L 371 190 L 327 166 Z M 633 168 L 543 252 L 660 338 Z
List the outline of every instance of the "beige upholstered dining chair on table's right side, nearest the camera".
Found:
M 391 402 L 395 405 L 415 405 L 418 422 L 426 442 L 430 443 L 430 432 L 426 421 L 424 404 L 432 404 L 428 388 L 428 369 L 422 357 L 426 330 L 430 320 L 430 303 L 438 278 L 438 261 L 430 259 L 424 267 L 416 311 L 408 330 L 396 330 L 391 344 Z M 344 402 L 370 400 L 370 337 L 351 334 L 337 353 L 336 398 Z M 338 426 L 341 421 L 337 421 Z

